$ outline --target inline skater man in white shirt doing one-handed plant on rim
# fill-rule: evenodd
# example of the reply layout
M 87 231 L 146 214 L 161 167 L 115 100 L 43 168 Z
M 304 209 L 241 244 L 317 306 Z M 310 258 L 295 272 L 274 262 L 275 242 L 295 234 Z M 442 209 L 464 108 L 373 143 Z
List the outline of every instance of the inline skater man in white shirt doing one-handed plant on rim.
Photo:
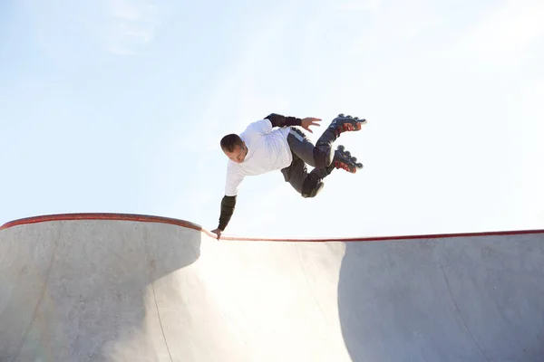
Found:
M 286 182 L 300 195 L 315 197 L 324 186 L 323 179 L 333 169 L 343 168 L 355 173 L 363 167 L 343 146 L 333 151 L 332 145 L 341 133 L 361 129 L 366 120 L 339 114 L 314 146 L 296 126 L 313 133 L 310 126 L 320 126 L 320 121 L 312 117 L 298 119 L 272 113 L 251 123 L 239 136 L 229 134 L 221 139 L 221 149 L 229 160 L 219 226 L 212 231 L 218 239 L 234 213 L 238 186 L 246 176 L 281 170 Z M 306 165 L 315 168 L 308 172 Z

